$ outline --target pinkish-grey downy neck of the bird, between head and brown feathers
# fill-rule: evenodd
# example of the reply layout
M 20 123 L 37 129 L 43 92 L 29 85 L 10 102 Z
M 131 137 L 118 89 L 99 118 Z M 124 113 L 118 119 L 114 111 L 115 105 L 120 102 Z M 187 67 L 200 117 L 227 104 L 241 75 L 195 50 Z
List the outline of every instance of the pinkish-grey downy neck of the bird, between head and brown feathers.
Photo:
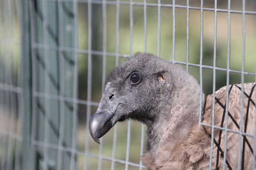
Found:
M 166 142 L 188 138 L 192 127 L 198 124 L 200 94 L 193 97 L 173 95 L 170 104 L 159 105 L 162 107 L 157 109 L 159 117 L 147 124 L 150 150 L 156 150 Z

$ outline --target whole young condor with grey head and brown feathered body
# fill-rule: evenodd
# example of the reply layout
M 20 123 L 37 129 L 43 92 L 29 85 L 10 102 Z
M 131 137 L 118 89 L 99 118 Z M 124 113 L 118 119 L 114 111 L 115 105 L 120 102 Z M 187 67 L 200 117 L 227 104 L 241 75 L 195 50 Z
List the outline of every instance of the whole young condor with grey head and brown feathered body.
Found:
M 203 96 L 202 123 L 212 125 L 214 100 L 214 126 L 223 129 L 214 128 L 212 169 L 222 169 L 223 164 L 225 169 L 237 169 L 239 158 L 239 168 L 252 169 L 255 85 L 243 85 L 243 104 L 241 84 L 230 85 L 228 92 L 227 87 L 222 87 L 216 91 L 215 99 L 212 95 Z M 148 169 L 209 169 L 212 129 L 198 124 L 199 115 L 200 85 L 193 76 L 172 62 L 136 53 L 108 76 L 89 127 L 92 138 L 99 143 L 99 138 L 116 122 L 127 118 L 138 120 L 147 125 L 148 148 L 142 159 Z

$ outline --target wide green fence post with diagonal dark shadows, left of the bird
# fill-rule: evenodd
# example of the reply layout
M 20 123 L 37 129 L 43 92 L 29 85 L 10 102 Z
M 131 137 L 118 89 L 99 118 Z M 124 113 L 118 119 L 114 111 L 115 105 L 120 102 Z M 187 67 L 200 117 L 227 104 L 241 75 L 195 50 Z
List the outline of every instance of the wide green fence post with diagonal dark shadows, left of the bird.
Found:
M 35 139 L 60 147 L 52 149 L 46 145 L 35 144 L 38 155 L 35 160 L 36 168 L 40 170 L 47 166 L 47 169 L 76 169 L 76 155 L 61 149 L 61 145 L 72 148 L 72 128 L 76 127 L 76 118 L 73 117 L 76 114 L 76 105 L 61 99 L 63 96 L 75 96 L 76 52 L 60 50 L 77 49 L 74 38 L 77 30 L 74 22 L 74 2 L 35 2 L 30 9 L 33 13 L 30 24 L 35 29 L 32 43 L 43 46 L 32 47 L 35 51 L 35 62 L 32 64 L 36 65 L 33 82 L 36 83 L 36 92 L 54 96 L 37 96 L 32 101 L 36 103 Z M 76 134 L 74 137 L 76 138 Z

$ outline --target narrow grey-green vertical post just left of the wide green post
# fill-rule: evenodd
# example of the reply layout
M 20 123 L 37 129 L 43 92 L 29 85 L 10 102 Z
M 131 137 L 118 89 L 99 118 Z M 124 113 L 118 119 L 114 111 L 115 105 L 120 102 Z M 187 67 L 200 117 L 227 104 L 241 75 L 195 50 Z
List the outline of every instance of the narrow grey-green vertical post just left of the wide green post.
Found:
M 35 169 L 35 150 L 31 148 L 31 49 L 30 49 L 30 29 L 29 29 L 29 1 L 22 0 L 22 20 L 21 20 L 21 54 L 22 54 L 22 101 L 26 101 L 24 106 L 24 126 L 23 126 L 23 147 L 22 147 L 22 169 Z

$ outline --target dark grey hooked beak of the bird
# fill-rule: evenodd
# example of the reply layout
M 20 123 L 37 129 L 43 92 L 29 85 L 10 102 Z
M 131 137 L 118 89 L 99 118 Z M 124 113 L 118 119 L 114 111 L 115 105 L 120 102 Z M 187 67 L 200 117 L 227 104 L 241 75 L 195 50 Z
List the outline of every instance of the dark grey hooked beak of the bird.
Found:
M 104 136 L 113 125 L 111 118 L 115 113 L 111 113 L 109 110 L 99 110 L 92 115 L 89 123 L 90 134 L 92 138 L 100 144 L 99 138 Z

